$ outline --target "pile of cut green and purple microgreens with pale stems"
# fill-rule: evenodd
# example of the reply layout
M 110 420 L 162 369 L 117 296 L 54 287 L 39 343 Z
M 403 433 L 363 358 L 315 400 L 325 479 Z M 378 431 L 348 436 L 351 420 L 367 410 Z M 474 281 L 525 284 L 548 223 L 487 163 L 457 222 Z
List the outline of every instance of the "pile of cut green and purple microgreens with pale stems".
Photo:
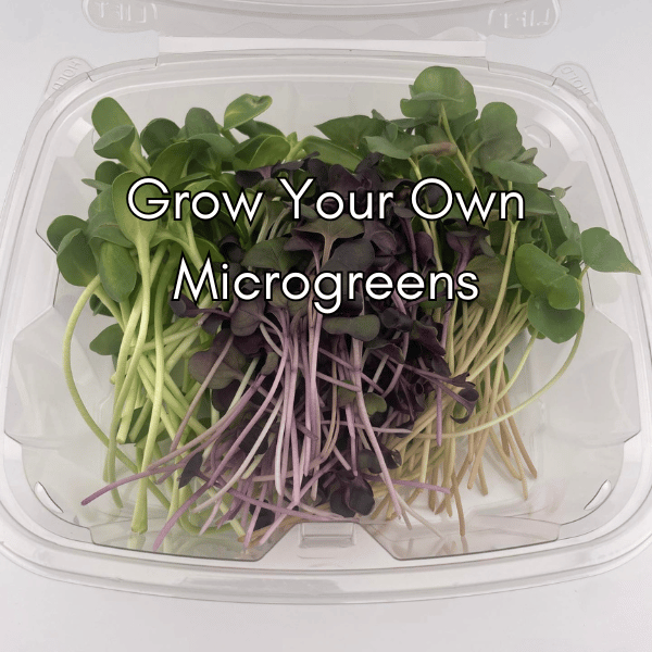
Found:
M 87 220 L 63 215 L 48 229 L 61 274 L 85 287 L 64 338 L 66 381 L 108 447 L 106 485 L 84 504 L 112 491 L 121 505 L 118 487 L 138 479 L 134 531 L 148 528 L 148 492 L 168 511 L 154 548 L 176 523 L 193 534 L 230 527 L 247 547 L 300 519 L 398 516 L 409 524 L 414 516 L 432 527 L 411 506 L 425 491 L 437 513 L 455 505 L 463 532 L 463 480 L 487 492 L 488 448 L 527 494 L 526 472 L 536 476 L 536 468 L 514 417 L 577 351 L 582 278 L 589 267 L 638 269 L 605 229 L 580 233 L 563 189 L 540 187 L 537 151 L 524 147 L 507 104 L 479 113 L 472 85 L 454 68 L 427 68 L 410 91 L 404 117 L 336 117 L 318 125 L 324 137 L 301 140 L 255 120 L 268 97 L 236 99 L 223 125 L 191 109 L 180 127 L 156 118 L 140 133 L 115 100 L 97 104 L 95 150 L 108 160 L 84 179 L 97 197 Z M 181 220 L 171 211 L 137 220 L 127 193 L 143 176 L 175 191 L 226 195 L 231 205 L 240 192 L 263 198 L 252 220 L 233 220 L 224 208 L 193 220 L 187 205 Z M 294 218 L 288 187 L 309 177 Z M 524 218 L 510 208 L 482 216 L 476 203 L 466 214 L 453 205 L 447 217 L 427 220 L 418 213 L 439 210 L 444 193 L 427 186 L 415 212 L 411 192 L 426 177 L 444 180 L 467 206 L 474 197 L 485 203 L 516 191 Z M 161 198 L 152 188 L 137 191 L 138 205 L 147 193 Z M 350 214 L 319 217 L 337 209 L 329 200 L 317 205 L 325 192 L 349 200 Z M 369 192 L 392 197 L 368 213 Z M 205 289 L 192 292 L 197 302 L 173 300 L 181 256 L 199 276 L 209 255 L 215 268 L 228 263 L 229 279 L 243 271 L 251 281 L 269 272 L 342 273 L 346 299 L 321 298 L 326 310 L 316 310 L 313 289 L 290 300 L 277 280 L 268 300 L 214 301 Z M 426 284 L 432 272 L 473 272 L 479 297 L 450 299 L 436 287 L 428 300 L 397 291 L 379 300 L 360 278 L 348 287 L 350 272 L 394 280 L 411 272 Z M 322 290 L 329 296 L 325 284 Z M 90 344 L 113 356 L 109 435 L 82 402 L 71 367 L 87 302 L 113 319 Z M 510 374 L 506 350 L 527 330 Z M 555 376 L 513 406 L 509 391 L 540 338 L 575 341 Z M 131 475 L 118 479 L 117 462 Z

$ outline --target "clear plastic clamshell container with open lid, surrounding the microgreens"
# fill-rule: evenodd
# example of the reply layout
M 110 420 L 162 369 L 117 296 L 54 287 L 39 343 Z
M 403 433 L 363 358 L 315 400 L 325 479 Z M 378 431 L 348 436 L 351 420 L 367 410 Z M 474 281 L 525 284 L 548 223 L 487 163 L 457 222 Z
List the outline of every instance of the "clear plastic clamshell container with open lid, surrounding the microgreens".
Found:
M 0 253 L 2 551 L 37 573 L 75 582 L 188 598 L 318 603 L 416 600 L 555 582 L 606 569 L 640 550 L 652 532 L 652 277 L 627 174 L 586 89 L 469 55 L 492 32 L 531 36 L 548 30 L 557 17 L 556 2 L 180 4 L 131 2 L 111 12 L 110 3 L 87 2 L 89 20 L 102 28 L 155 27 L 168 38 L 167 52 L 99 70 L 75 59 L 62 64 L 53 77 L 57 90 L 35 117 L 16 167 Z M 441 13 L 461 5 L 465 13 Z M 324 18 L 326 9 L 330 17 Z M 236 10 L 240 14 L 234 17 Z M 288 13 L 303 26 L 294 26 L 306 39 L 299 45 L 202 51 L 208 43 L 214 47 L 213 37 L 238 36 L 244 24 L 249 36 L 283 35 L 279 25 Z M 213 20 L 217 15 L 224 21 Z M 362 29 L 365 15 L 375 17 Z M 383 38 L 392 20 L 401 26 L 390 29 L 394 37 L 431 40 L 415 41 L 414 50 L 422 51 L 369 49 L 365 35 L 376 29 Z M 316 49 L 309 39 L 324 24 L 334 29 L 322 37 L 349 39 L 349 46 Z M 544 184 L 570 187 L 565 203 L 580 227 L 609 228 L 642 272 L 640 277 L 589 273 L 585 280 L 587 319 L 577 356 L 554 388 L 517 418 L 539 472 L 528 500 L 518 482 L 492 471 L 488 496 L 464 494 L 464 539 L 454 516 L 430 515 L 439 537 L 418 524 L 412 529 L 400 523 L 303 524 L 249 552 L 233 538 L 183 531 L 168 537 L 161 552 L 151 552 L 165 513 L 152 510 L 150 532 L 134 535 L 128 490 L 124 513 L 110 500 L 82 507 L 80 500 L 101 482 L 102 447 L 64 384 L 61 341 L 80 290 L 59 276 L 45 233 L 59 214 L 85 215 L 93 197 L 79 179 L 92 176 L 99 162 L 90 122 L 95 103 L 114 97 L 142 128 L 158 116 L 183 123 L 191 106 L 221 115 L 243 92 L 271 95 L 274 104 L 265 121 L 308 134 L 314 124 L 339 115 L 372 109 L 398 115 L 408 85 L 434 64 L 457 67 L 474 85 L 479 106 L 511 103 L 525 146 L 539 149 L 538 165 L 549 174 Z M 62 75 L 73 78 L 62 84 Z M 88 343 L 105 325 L 85 312 L 73 347 L 83 398 L 104 427 L 112 369 L 88 351 Z M 543 386 L 569 346 L 539 342 L 512 401 L 519 403 Z

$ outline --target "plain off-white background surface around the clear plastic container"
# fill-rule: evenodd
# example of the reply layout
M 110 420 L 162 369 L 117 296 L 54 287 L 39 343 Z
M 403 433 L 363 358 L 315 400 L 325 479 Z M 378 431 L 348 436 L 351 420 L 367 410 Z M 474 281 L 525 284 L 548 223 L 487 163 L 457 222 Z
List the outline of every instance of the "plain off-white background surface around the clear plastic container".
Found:
M 489 58 L 550 72 L 574 61 L 592 77 L 652 235 L 652 2 L 561 0 L 550 36 L 492 41 Z M 53 64 L 153 57 L 153 35 L 103 34 L 80 0 L 0 0 L 0 198 Z M 276 606 L 99 590 L 32 575 L 0 556 L 0 649 L 652 650 L 652 547 L 624 566 L 550 587 L 430 602 Z

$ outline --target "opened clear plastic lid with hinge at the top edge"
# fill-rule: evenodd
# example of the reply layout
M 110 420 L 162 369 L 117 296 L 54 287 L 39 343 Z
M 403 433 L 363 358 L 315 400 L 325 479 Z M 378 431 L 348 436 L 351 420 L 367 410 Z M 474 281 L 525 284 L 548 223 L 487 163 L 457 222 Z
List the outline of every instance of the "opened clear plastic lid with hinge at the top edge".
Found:
M 217 37 L 390 40 L 391 49 L 401 40 L 523 38 L 547 34 L 560 16 L 559 0 L 85 0 L 84 10 L 104 30 L 155 30 L 167 51 L 225 49 Z

